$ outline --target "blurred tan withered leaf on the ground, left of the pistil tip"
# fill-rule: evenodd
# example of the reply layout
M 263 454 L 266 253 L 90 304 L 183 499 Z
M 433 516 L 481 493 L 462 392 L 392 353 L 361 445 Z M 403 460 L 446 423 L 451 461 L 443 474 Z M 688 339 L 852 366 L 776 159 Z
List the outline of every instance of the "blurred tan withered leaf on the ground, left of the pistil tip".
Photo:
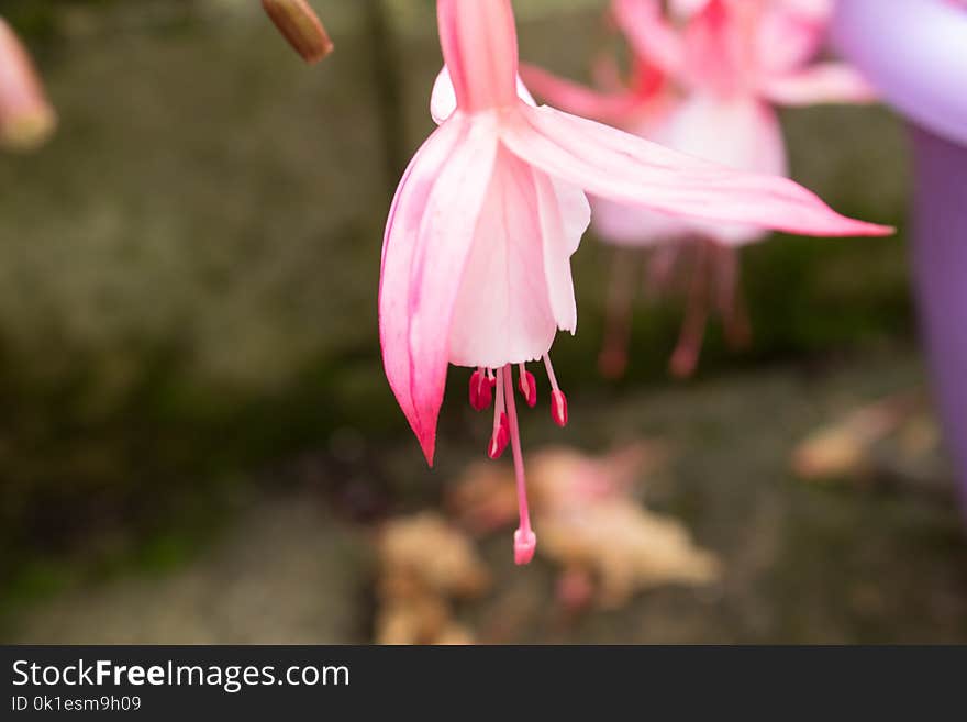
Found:
M 471 644 L 452 599 L 478 597 L 490 575 L 459 529 L 433 513 L 390 521 L 378 542 L 378 644 Z

